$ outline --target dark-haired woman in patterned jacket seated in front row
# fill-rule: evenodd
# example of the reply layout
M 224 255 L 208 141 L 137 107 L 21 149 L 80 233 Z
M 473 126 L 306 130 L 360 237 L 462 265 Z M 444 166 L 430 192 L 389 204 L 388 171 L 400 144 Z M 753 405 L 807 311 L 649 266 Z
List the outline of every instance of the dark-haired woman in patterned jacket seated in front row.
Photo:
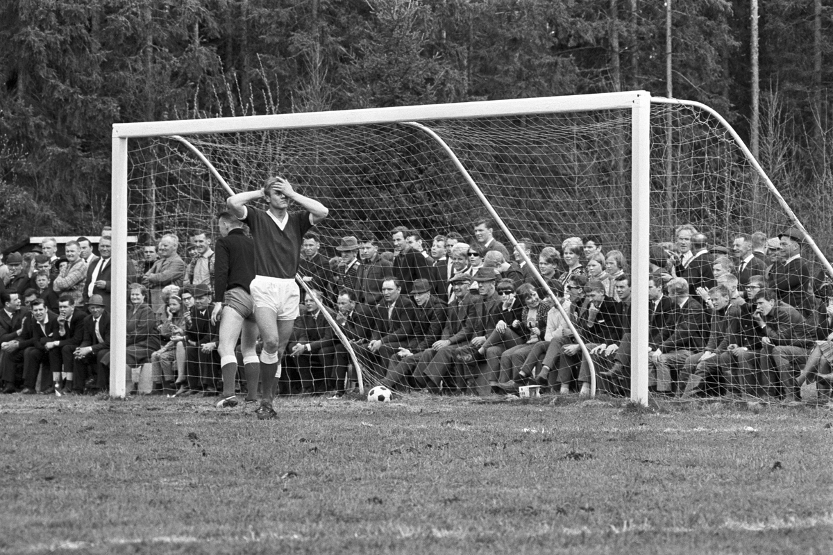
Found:
M 538 297 L 536 288 L 530 283 L 524 283 L 517 288 L 516 295 L 525 305 L 520 320 L 523 338 L 516 346 L 506 349 L 501 354 L 500 370 L 503 381 L 497 387 L 506 393 L 515 393 L 531 378 L 531 374 L 523 370 L 522 364 L 536 343 L 543 340 L 546 320 L 552 306 L 550 299 Z

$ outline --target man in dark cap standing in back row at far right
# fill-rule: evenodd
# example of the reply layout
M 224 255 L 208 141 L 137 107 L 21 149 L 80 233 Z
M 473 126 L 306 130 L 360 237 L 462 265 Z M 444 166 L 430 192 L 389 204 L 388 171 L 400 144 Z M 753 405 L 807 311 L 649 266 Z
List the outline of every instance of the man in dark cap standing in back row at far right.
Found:
M 816 308 L 810 266 L 801 258 L 801 243 L 805 239 L 801 229 L 792 227 L 778 236 L 781 248 L 770 267 L 770 287 L 778 300 L 797 308 L 809 318 Z

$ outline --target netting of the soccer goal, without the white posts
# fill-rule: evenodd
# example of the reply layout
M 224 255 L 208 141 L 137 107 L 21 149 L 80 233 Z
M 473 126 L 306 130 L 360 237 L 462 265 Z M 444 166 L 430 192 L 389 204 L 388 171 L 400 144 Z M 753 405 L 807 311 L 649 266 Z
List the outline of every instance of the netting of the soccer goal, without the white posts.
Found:
M 421 123 L 448 144 L 514 237 L 523 238 L 529 245 L 531 258 L 536 264 L 541 262 L 539 257 L 544 248 L 556 249 L 556 258 L 560 260 L 556 263 L 555 272 L 541 268 L 546 269 L 548 283 L 569 281 L 563 277 L 559 279 L 560 275 L 571 273 L 568 268 L 570 255 L 564 257 L 565 240 L 569 242 L 568 238 L 581 238 L 584 243 L 589 238 L 601 245 L 606 256 L 595 264 L 588 264 L 588 259 L 582 256 L 579 262 L 586 268 L 578 270 L 578 273 L 586 273 L 587 278 L 601 279 L 611 298 L 620 296 L 614 287 L 615 275 L 619 271 L 628 272 L 627 258 L 631 253 L 630 110 Z M 530 312 L 535 315 L 536 311 L 523 310 L 526 297 L 531 295 L 521 295 L 514 308 L 507 305 L 502 313 L 503 319 L 519 318 L 520 325 L 514 328 L 517 338 L 510 338 L 509 333 L 493 334 L 492 330 L 501 318 L 491 318 L 491 323 L 483 324 L 484 329 L 475 331 L 481 337 L 489 338 L 486 348 L 481 348 L 477 342 L 474 345 L 471 342 L 456 345 L 447 360 L 435 364 L 444 367 L 442 379 L 426 379 L 437 378 L 434 374 L 436 368 L 428 368 L 436 362 L 436 353 L 432 357 L 421 356 L 417 348 L 418 343 L 423 343 L 421 346 L 424 347 L 421 340 L 426 336 L 431 339 L 426 340 L 427 343 L 433 343 L 435 339 L 426 324 L 430 320 L 426 316 L 428 311 L 420 306 L 409 308 L 407 317 L 402 316 L 402 325 L 397 328 L 395 322 L 386 322 L 388 318 L 381 311 L 385 306 L 384 299 L 380 300 L 383 280 L 374 282 L 367 278 L 367 283 L 375 284 L 357 284 L 357 278 L 350 275 L 351 270 L 345 270 L 352 268 L 355 271 L 357 265 L 348 260 L 355 251 L 338 251 L 337 248 L 342 241 L 346 241 L 345 238 L 354 237 L 358 243 L 372 240 L 380 258 L 392 261 L 392 265 L 382 263 L 384 269 L 376 270 L 374 275 L 379 278 L 383 277 L 382 274 L 390 274 L 400 278 L 401 295 L 408 298 L 401 304 L 417 300 L 411 294 L 415 278 L 428 278 L 431 292 L 441 303 L 446 303 L 449 293 L 453 292 L 447 278 L 458 271 L 476 273 L 476 268 L 469 266 L 469 260 L 480 263 L 481 258 L 467 255 L 469 252 L 485 253 L 489 250 L 482 248 L 473 234 L 475 223 L 479 218 L 487 217 L 488 213 L 449 155 L 428 134 L 402 122 L 391 122 L 198 135 L 188 140 L 217 168 L 235 192 L 260 188 L 264 178 L 279 174 L 296 184 L 302 194 L 321 201 L 330 209 L 329 217 L 315 229 L 318 253 L 321 255 L 317 258 L 317 269 L 313 268 L 314 264 L 307 264 L 302 273 L 321 274 L 310 284 L 322 290 L 322 303 L 333 315 L 338 312 L 337 298 L 342 288 L 373 289 L 372 295 L 368 292 L 359 295 L 364 306 L 362 308 L 360 303 L 357 313 L 367 316 L 362 323 L 362 328 L 367 329 L 365 339 L 354 344 L 357 354 L 355 362 L 363 371 L 366 388 L 385 383 L 405 392 L 413 388 L 433 389 L 439 385 L 449 391 L 487 393 L 490 383 L 508 383 L 513 378 L 519 378 L 521 368 L 526 368 L 526 373 L 532 374 L 531 378 L 541 378 L 541 364 L 545 362 L 551 363 L 553 368 L 543 377 L 542 384 L 557 389 L 564 386 L 564 381 L 569 381 L 567 385 L 572 388 L 581 386 L 581 357 L 562 355 L 560 360 L 547 360 L 546 348 L 532 348 L 535 338 L 531 337 L 534 334 L 529 328 L 536 326 L 526 326 L 524 318 L 529 318 Z M 170 138 L 132 140 L 128 173 L 128 232 L 137 234 L 141 238 L 140 244 L 153 243 L 162 233 L 175 233 L 182 241 L 200 232 L 216 235 L 213 216 L 225 209 L 227 193 L 212 178 L 207 167 L 181 143 Z M 252 205 L 265 208 L 260 201 Z M 690 235 L 705 234 L 709 254 L 701 259 L 708 260 L 706 265 L 710 270 L 711 263 L 721 257 L 720 251 L 724 248 L 730 261 L 724 261 L 722 271 L 737 275 L 741 274 L 741 261 L 731 256 L 738 235 L 758 232 L 765 238 L 773 238 L 789 228 L 791 221 L 766 184 L 757 177 L 735 141 L 707 112 L 686 106 L 654 105 L 651 109 L 652 246 L 651 252 L 645 253 L 645 256 L 651 259 L 656 273 L 666 274 L 665 279 L 676 274 L 688 276 L 692 285 L 696 282 L 707 291 L 716 285 L 714 280 L 701 278 L 698 281 L 691 278 L 691 272 L 686 268 L 672 268 L 677 259 L 683 258 L 684 253 L 676 252 L 679 250 L 676 235 L 684 224 L 694 228 Z M 399 247 L 392 241 L 392 230 L 397 226 L 404 226 L 421 238 L 424 249 L 424 253 L 418 254 L 421 262 L 413 262 L 413 256 L 411 263 L 402 262 L 407 258 L 398 253 Z M 497 226 L 494 226 L 494 231 L 496 240 L 508 250 L 506 263 L 515 262 L 511 242 Z M 451 260 L 448 256 L 450 248 L 446 251 L 440 245 L 433 245 L 436 236 L 447 237 L 450 234 L 458 234 L 465 244 L 471 243 L 470 247 L 462 249 L 466 253 L 465 260 L 461 261 L 460 254 L 456 254 L 453 270 L 448 270 L 448 262 L 442 259 Z M 754 238 L 748 238 L 746 243 L 753 241 Z M 347 240 L 343 244 L 351 243 Z M 762 249 L 766 251 L 766 240 Z M 457 251 L 460 250 L 457 248 Z M 613 253 L 614 263 L 611 263 L 611 251 L 623 255 L 617 258 Z M 347 258 L 339 265 L 342 252 L 347 252 Z M 367 251 L 355 253 L 365 266 L 372 265 L 361 259 Z M 551 256 L 549 249 L 544 253 L 547 257 Z M 771 250 L 770 254 L 774 260 L 774 251 Z M 816 277 L 821 264 L 809 249 L 802 255 L 809 265 L 809 272 Z M 137 253 L 136 258 L 140 257 Z M 522 262 L 520 258 L 517 261 Z M 400 269 L 403 264 L 417 269 L 411 268 L 411 272 L 403 275 Z M 596 268 L 596 264 L 606 272 L 596 274 L 600 269 Z M 423 270 L 423 266 L 432 269 Z M 516 278 L 515 286 L 527 280 L 539 285 L 537 281 L 527 278 L 523 268 L 513 266 L 506 271 L 504 266 L 502 269 L 503 275 Z M 513 273 L 516 269 L 521 270 L 523 277 L 520 281 L 518 274 Z M 741 283 L 741 298 L 745 284 Z M 730 286 L 731 296 L 736 297 L 731 279 L 727 285 Z M 806 288 L 808 295 L 815 294 L 816 300 L 821 299 L 823 279 L 813 278 L 802 283 L 801 288 Z M 558 288 L 559 293 L 561 290 Z M 471 292 L 477 293 L 476 283 L 471 286 Z M 707 293 L 703 297 L 696 291 L 692 293 L 704 305 L 709 303 Z M 375 306 L 377 301 L 381 303 L 378 307 Z M 579 312 L 586 303 L 579 298 L 572 301 Z M 750 307 L 754 302 L 750 298 L 746 306 Z M 529 303 L 534 306 L 535 301 Z M 740 305 L 741 299 L 736 299 L 735 303 Z M 541 305 L 542 308 L 548 306 Z M 799 308 L 810 323 L 812 311 L 808 307 Z M 500 305 L 496 312 L 501 312 Z M 443 313 L 447 316 L 451 310 L 446 309 Z M 698 396 L 740 392 L 784 398 L 789 393 L 791 385 L 785 383 L 782 368 L 785 363 L 780 355 L 762 347 L 760 341 L 748 346 L 756 353 L 756 349 L 760 349 L 761 353 L 760 360 L 751 363 L 739 363 L 725 355 L 721 358 L 723 363 L 711 368 L 708 364 L 691 360 L 689 355 L 701 353 L 706 348 L 711 328 L 714 327 L 708 310 L 704 309 L 703 314 L 699 346 L 675 348 L 673 351 L 678 354 L 673 359 L 666 353 L 659 373 L 653 368 L 651 370 L 653 387 L 664 391 L 662 388 L 666 386 L 661 376 L 668 373 L 671 393 L 676 392 L 677 395 L 686 391 L 688 382 L 696 382 L 695 387 L 689 389 L 696 391 Z M 575 318 L 580 318 L 580 315 L 576 313 Z M 753 318 L 751 308 L 745 318 Z M 396 320 L 393 316 L 391 319 Z M 533 319 L 530 319 L 530 324 Z M 486 321 L 485 318 L 483 320 Z M 552 321 L 556 322 L 556 318 Z M 538 338 L 543 344 L 545 336 L 551 334 L 546 333 L 546 318 L 539 318 L 539 322 Z M 507 323 L 511 327 L 511 323 Z M 445 325 L 446 335 L 449 330 L 455 331 L 451 324 L 446 322 Z M 308 321 L 299 319 L 293 341 L 303 341 L 309 339 L 310 334 L 323 333 L 322 330 L 310 328 Z M 404 336 L 399 333 L 402 336 L 399 337 L 393 333 L 393 328 L 399 330 L 397 333 L 402 330 L 406 333 Z M 434 329 L 436 335 L 436 327 Z M 806 344 L 802 346 L 804 358 L 786 357 L 789 373 L 797 375 L 803 368 L 806 354 L 812 350 L 810 342 L 816 339 L 818 329 L 818 326 L 808 326 L 806 330 Z M 506 337 L 497 338 L 497 335 Z M 397 336 L 395 341 L 391 339 L 393 336 Z M 383 341 L 387 350 L 373 348 L 372 341 L 380 337 L 389 339 L 387 343 Z M 442 337 L 440 333 L 436 339 Z M 284 368 L 288 370 L 284 373 L 281 386 L 283 393 L 331 390 L 336 376 L 333 368 L 348 364 L 356 366 L 354 359 L 344 355 L 338 338 L 333 338 L 330 343 L 332 348 L 323 353 L 312 353 L 308 359 L 287 358 Z M 726 351 L 725 347 L 721 353 Z M 402 348 L 408 349 L 407 353 L 402 352 Z M 683 356 L 686 350 L 690 353 Z M 531 353 L 539 355 L 537 360 L 529 358 Z M 403 366 L 403 361 L 412 364 L 410 367 L 407 364 Z M 616 373 L 620 372 L 617 362 L 622 363 L 626 373 L 627 358 L 622 353 L 612 353 L 608 357 L 600 355 L 596 360 L 599 365 L 597 370 L 610 371 L 612 368 L 614 378 L 604 388 L 623 393 L 626 382 L 616 382 Z M 352 372 L 355 371 L 356 368 L 352 368 Z M 402 373 L 405 373 L 404 377 Z M 702 381 L 696 379 L 698 376 L 703 378 Z M 514 383 L 523 382 L 515 379 Z

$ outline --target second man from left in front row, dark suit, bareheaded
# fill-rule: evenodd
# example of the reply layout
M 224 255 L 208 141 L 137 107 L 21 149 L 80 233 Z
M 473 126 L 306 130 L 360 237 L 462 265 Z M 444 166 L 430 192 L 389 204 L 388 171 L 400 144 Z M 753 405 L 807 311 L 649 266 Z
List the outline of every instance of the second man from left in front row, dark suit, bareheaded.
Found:
M 46 343 L 57 337 L 57 314 L 47 309 L 42 298 L 32 303 L 32 318 L 23 328 L 20 336 L 20 349 L 23 352 L 23 389 L 20 393 L 37 393 L 37 374 L 41 371 L 41 363 L 47 358 Z M 52 383 L 52 372 L 47 371 L 41 378 L 43 393 L 55 393 Z

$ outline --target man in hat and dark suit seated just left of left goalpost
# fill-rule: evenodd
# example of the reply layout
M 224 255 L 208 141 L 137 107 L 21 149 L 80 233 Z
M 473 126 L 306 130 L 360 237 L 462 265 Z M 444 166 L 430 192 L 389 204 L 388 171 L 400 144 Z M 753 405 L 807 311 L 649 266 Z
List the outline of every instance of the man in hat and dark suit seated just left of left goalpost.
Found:
M 87 301 L 89 316 L 83 319 L 84 335 L 75 349 L 72 373 L 73 393 L 95 390 L 104 393 L 110 388 L 110 315 L 101 295 Z

